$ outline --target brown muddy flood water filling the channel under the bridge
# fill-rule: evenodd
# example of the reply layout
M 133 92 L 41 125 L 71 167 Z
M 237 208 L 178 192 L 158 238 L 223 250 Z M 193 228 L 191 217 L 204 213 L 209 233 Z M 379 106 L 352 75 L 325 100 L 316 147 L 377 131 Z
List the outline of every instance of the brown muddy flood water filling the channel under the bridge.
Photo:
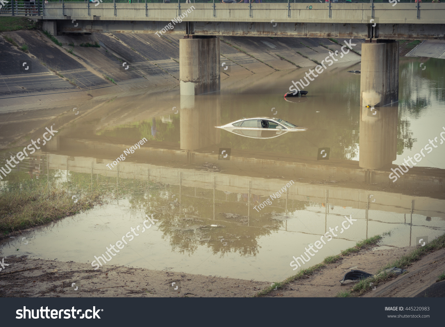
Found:
M 399 102 L 375 114 L 360 108 L 360 74 L 348 73 L 360 63 L 322 74 L 291 101 L 283 95 L 305 69 L 235 72 L 222 77 L 220 93 L 195 97 L 179 87 L 135 89 L 3 114 L 3 144 L 28 144 L 51 125 L 58 132 L 2 189 L 23 182 L 65 188 L 73 201 L 87 189 L 112 195 L 4 239 L 1 254 L 92 263 L 130 232 L 107 265 L 281 281 L 301 269 L 292 256 L 307 247 L 314 255 L 303 268 L 374 235 L 383 235 L 380 249 L 430 242 L 445 230 L 445 67 L 420 62 L 400 59 Z M 307 130 L 215 128 L 243 117 Z M 1 165 L 22 148 L 4 148 Z M 391 168 L 421 149 L 421 161 L 393 183 Z M 152 214 L 158 221 L 142 233 Z

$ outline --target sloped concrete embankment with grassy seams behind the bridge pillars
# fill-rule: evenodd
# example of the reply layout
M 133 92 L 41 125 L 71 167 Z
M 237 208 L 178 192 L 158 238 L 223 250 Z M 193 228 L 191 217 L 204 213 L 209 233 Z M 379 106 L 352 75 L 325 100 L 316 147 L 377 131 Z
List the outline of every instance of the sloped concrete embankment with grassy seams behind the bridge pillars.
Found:
M 0 62 L 4 83 L 0 86 L 2 107 L 44 107 L 52 101 L 88 100 L 91 97 L 134 89 L 179 86 L 179 39 L 181 36 L 95 33 L 57 36 L 62 47 L 41 31 L 3 32 Z M 28 52 L 19 47 L 26 44 Z M 360 51 L 360 40 L 355 40 Z M 100 47 L 85 45 L 99 44 Z M 237 77 L 313 67 L 340 45 L 328 39 L 221 37 L 221 62 L 231 66 L 223 72 L 222 87 Z M 2 56 L 3 57 L 3 56 Z M 340 61 L 355 64 L 360 56 L 350 52 Z M 20 67 L 26 62 L 28 71 Z M 125 64 L 126 63 L 126 64 Z M 128 68 L 127 68 L 128 67 Z M 127 69 L 125 69 L 127 68 Z M 21 107 L 20 107 L 21 106 Z

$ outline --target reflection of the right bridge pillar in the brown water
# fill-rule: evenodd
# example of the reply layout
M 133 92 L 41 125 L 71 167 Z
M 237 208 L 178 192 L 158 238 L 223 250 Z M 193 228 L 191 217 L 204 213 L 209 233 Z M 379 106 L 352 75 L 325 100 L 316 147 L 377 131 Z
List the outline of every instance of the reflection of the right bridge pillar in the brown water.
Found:
M 392 164 L 397 155 L 397 106 L 360 111 L 360 160 L 365 169 Z M 372 116 L 372 113 L 376 113 Z

